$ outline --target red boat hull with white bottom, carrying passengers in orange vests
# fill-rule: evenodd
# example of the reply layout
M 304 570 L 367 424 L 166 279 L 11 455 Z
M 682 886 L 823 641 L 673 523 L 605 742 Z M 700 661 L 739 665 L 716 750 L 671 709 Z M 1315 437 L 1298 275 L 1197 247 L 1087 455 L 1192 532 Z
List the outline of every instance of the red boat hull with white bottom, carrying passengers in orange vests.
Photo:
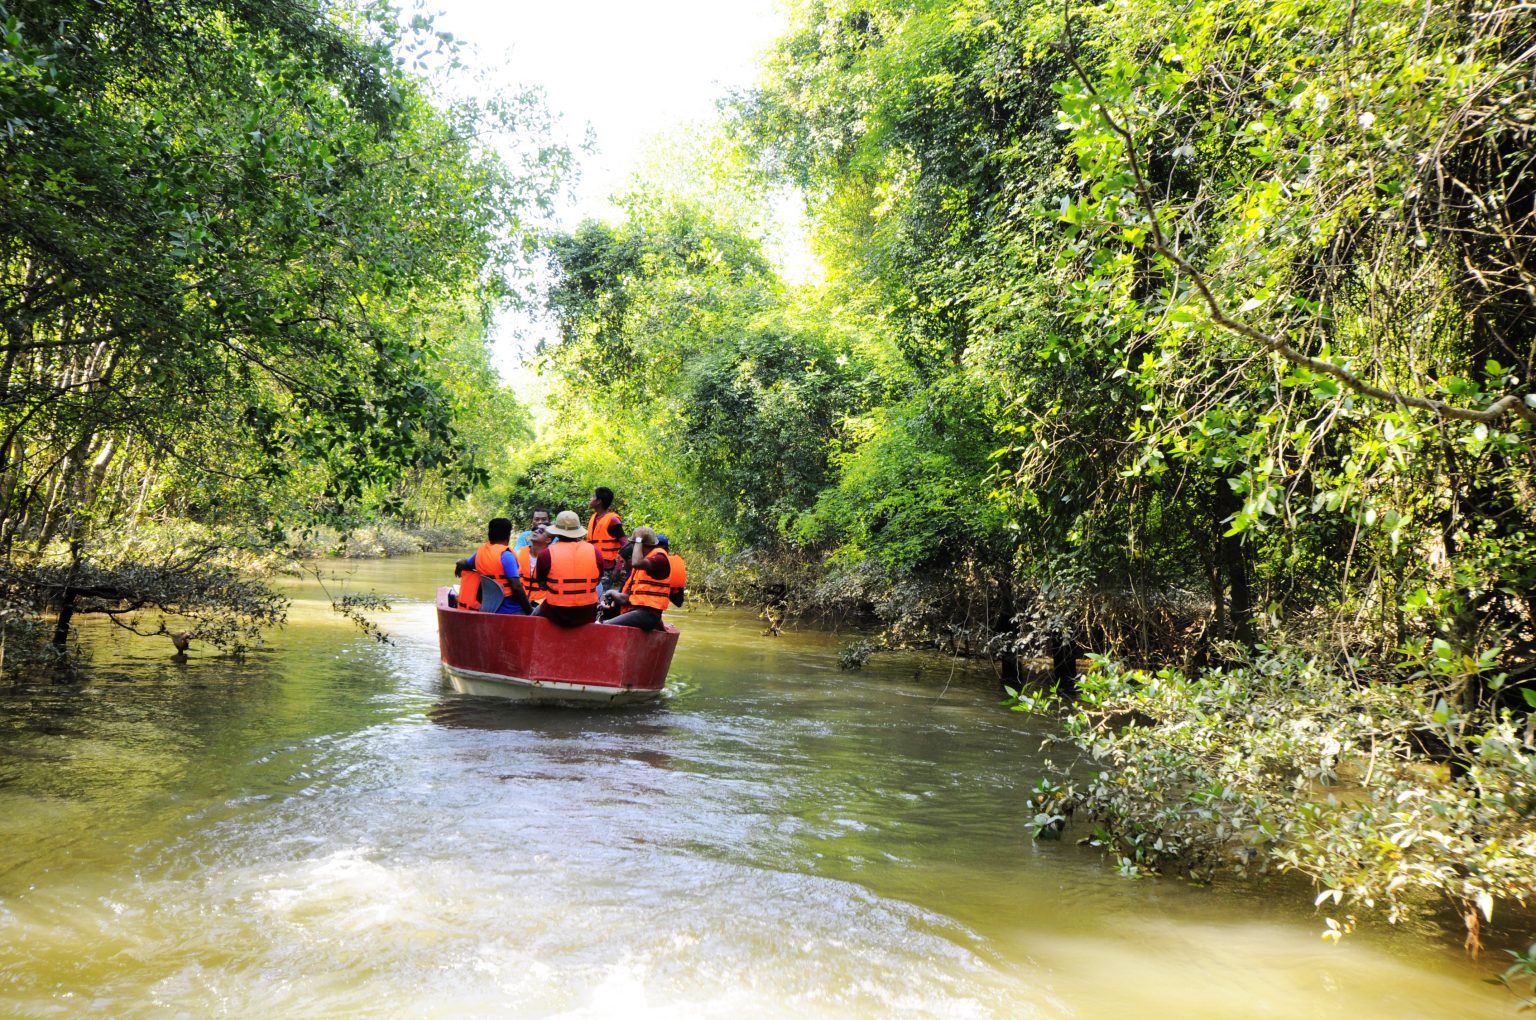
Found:
M 438 647 L 453 690 L 518 700 L 648 700 L 662 693 L 677 628 L 559 627 L 449 605 L 438 588 Z

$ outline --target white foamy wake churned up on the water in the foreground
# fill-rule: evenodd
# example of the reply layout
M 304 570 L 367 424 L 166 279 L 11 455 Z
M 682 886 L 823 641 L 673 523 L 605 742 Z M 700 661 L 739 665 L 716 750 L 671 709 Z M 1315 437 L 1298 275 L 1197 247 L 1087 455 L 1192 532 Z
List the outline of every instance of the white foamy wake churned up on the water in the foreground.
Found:
M 499 871 L 358 846 L 144 883 L 135 899 L 158 908 L 135 922 L 135 972 L 151 980 L 124 974 L 101 1002 L 284 1017 L 450 1005 L 573 1018 L 1038 1012 L 968 932 L 859 886 L 697 860 L 610 863 Z

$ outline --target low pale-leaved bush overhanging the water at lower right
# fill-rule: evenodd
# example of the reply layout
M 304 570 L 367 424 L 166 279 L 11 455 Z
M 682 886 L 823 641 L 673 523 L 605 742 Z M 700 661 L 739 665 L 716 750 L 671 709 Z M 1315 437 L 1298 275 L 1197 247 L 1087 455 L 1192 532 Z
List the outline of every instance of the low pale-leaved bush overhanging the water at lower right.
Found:
M 1335 932 L 1355 911 L 1395 922 L 1441 900 L 1475 937 L 1499 902 L 1536 894 L 1530 727 L 1455 708 L 1445 676 L 1362 668 L 1269 651 L 1200 674 L 1101 659 L 1061 737 L 1098 770 L 1071 793 L 1091 842 L 1137 871 L 1304 874 L 1319 905 L 1350 911 Z

